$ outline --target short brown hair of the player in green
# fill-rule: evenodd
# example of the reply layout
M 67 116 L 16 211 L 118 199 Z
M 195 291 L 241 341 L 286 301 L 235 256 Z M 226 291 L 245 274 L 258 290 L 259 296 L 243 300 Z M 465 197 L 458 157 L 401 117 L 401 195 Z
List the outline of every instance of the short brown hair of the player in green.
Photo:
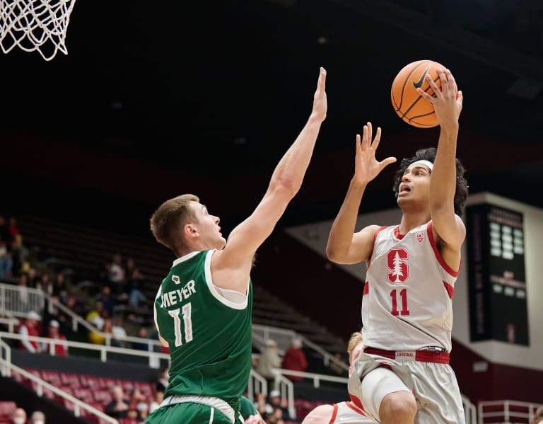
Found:
M 151 232 L 158 243 L 176 255 L 185 248 L 185 239 L 179 236 L 180 227 L 196 219 L 190 202 L 199 202 L 195 195 L 185 194 L 166 200 L 151 216 Z

